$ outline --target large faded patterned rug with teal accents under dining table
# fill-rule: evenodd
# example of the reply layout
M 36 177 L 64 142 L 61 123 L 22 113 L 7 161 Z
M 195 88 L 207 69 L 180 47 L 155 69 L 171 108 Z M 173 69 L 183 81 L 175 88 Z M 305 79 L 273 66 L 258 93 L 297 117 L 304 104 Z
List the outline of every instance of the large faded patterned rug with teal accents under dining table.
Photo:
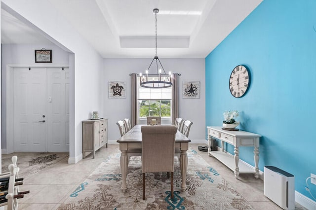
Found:
M 109 156 L 78 186 L 58 210 L 252 210 L 250 204 L 210 167 L 194 149 L 188 151 L 186 192 L 181 191 L 176 158 L 174 199 L 166 173 L 146 174 L 146 200 L 142 200 L 140 157 L 128 164 L 127 190 L 120 189 L 120 154 Z M 169 190 L 169 191 L 168 191 Z

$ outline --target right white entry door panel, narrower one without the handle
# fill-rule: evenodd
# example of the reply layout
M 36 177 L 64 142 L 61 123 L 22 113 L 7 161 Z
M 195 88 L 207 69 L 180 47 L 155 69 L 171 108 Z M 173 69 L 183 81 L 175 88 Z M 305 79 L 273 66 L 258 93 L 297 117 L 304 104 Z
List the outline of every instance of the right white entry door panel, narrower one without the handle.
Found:
M 69 151 L 69 68 L 47 69 L 47 151 Z

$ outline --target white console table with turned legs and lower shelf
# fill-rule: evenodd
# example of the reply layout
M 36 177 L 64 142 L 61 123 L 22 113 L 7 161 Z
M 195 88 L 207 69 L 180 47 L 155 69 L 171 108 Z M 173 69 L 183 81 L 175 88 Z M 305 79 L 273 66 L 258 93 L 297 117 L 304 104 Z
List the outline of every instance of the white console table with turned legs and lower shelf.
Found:
M 221 140 L 222 148 L 220 151 L 211 151 L 211 137 Z M 234 171 L 235 177 L 239 174 L 254 174 L 255 178 L 259 178 L 259 138 L 261 135 L 253 134 L 245 131 L 228 131 L 222 127 L 207 126 L 208 155 L 213 156 L 224 165 Z M 224 149 L 224 142 L 234 145 L 235 155 L 231 155 Z M 254 147 L 255 170 L 243 162 L 239 163 L 239 146 Z

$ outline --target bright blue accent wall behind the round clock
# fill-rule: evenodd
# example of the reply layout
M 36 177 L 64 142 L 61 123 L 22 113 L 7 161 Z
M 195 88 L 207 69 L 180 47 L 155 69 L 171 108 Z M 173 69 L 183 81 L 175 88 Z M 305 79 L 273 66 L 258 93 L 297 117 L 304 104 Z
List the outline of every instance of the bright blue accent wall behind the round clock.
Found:
M 206 125 L 239 110 L 239 129 L 262 135 L 259 169 L 295 175 L 295 190 L 311 198 L 305 179 L 316 174 L 316 0 L 264 0 L 205 58 Z M 234 98 L 237 65 L 251 74 L 248 92 Z M 229 146 L 229 151 L 233 148 Z M 240 158 L 252 166 L 253 148 Z M 316 187 L 311 188 L 316 195 Z

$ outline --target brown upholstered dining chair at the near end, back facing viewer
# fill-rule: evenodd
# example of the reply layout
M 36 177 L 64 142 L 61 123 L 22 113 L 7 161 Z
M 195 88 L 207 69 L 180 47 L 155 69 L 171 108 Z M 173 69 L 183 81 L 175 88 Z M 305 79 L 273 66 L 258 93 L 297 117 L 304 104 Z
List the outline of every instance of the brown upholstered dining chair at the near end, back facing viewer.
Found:
M 170 172 L 173 198 L 174 150 L 177 128 L 173 125 L 142 126 L 143 200 L 145 200 L 145 173 Z

